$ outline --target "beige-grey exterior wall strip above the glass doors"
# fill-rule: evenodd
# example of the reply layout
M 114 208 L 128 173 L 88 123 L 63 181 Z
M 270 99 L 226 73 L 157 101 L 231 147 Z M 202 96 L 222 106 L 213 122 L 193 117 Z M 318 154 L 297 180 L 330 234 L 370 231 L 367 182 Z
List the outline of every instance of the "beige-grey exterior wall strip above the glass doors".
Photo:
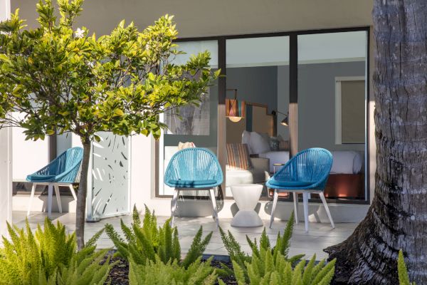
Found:
M 11 11 L 36 26 L 38 0 L 11 0 Z M 86 0 L 76 27 L 97 36 L 110 33 L 125 19 L 139 28 L 159 16 L 175 15 L 179 36 L 213 36 L 319 28 L 370 26 L 373 0 Z

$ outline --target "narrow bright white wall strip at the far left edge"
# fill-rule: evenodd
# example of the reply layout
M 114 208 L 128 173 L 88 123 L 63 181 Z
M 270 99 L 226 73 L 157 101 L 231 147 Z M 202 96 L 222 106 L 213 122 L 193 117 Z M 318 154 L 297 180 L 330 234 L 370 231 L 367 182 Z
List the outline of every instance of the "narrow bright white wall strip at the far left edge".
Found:
M 0 0 L 0 21 L 10 16 L 9 0 Z M 12 219 L 12 142 L 11 129 L 0 129 L 0 234 Z

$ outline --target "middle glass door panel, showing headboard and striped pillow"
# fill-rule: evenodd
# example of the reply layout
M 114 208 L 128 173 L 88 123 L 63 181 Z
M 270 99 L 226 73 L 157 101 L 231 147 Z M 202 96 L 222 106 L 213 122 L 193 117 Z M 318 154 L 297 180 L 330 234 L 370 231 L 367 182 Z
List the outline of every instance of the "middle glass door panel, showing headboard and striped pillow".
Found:
M 280 124 L 289 105 L 289 36 L 226 41 L 226 108 L 232 100 L 241 118 L 225 118 L 226 197 L 233 185 L 264 185 L 289 160 L 288 128 Z

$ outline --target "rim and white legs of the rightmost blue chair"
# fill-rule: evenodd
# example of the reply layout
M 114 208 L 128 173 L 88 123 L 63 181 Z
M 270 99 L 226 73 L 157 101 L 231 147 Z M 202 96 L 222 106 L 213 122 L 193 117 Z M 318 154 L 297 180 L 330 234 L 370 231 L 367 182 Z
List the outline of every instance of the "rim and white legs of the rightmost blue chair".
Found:
M 304 152 L 309 152 L 311 150 L 324 150 L 324 149 L 320 149 L 320 148 L 309 148 L 307 150 L 303 150 L 302 152 L 298 152 L 297 155 L 295 155 L 295 157 L 297 157 L 298 155 L 302 155 Z M 329 153 L 331 159 L 332 159 L 332 154 L 325 150 L 327 153 Z M 280 170 L 285 169 L 285 167 L 290 167 L 290 165 L 292 164 L 292 160 L 295 159 L 295 157 L 292 157 L 285 165 L 283 165 L 283 167 Z M 330 165 L 332 166 L 332 162 L 330 163 Z M 275 175 L 273 175 L 273 178 L 280 172 L 280 170 L 278 172 L 276 172 Z M 280 192 L 292 192 L 293 195 L 293 204 L 294 204 L 294 216 L 295 216 L 295 224 L 298 224 L 298 194 L 302 193 L 302 202 L 303 202 L 303 206 L 304 206 L 304 222 L 305 222 L 305 232 L 308 232 L 308 199 L 309 199 L 309 195 L 310 193 L 313 194 L 317 194 L 320 196 L 320 199 L 322 199 L 322 204 L 325 207 L 326 213 L 327 213 L 327 217 L 330 220 L 331 226 L 332 228 L 335 228 L 335 224 L 334 221 L 332 220 L 332 216 L 330 213 L 330 209 L 327 206 L 327 202 L 325 199 L 325 195 L 323 194 L 323 190 L 325 190 L 325 185 L 327 182 L 327 178 L 329 177 L 329 172 L 330 170 L 327 172 L 326 175 L 324 175 L 319 181 L 313 183 L 313 185 L 310 185 L 309 187 L 307 187 L 308 189 L 304 189 L 304 188 L 299 188 L 299 187 L 295 187 L 295 189 L 290 189 L 288 187 L 283 187 L 280 188 L 280 186 L 277 185 L 271 185 L 269 182 L 265 183 L 265 185 L 267 187 L 270 187 L 272 189 L 274 189 L 274 195 L 273 195 L 273 207 L 271 209 L 271 216 L 270 216 L 270 228 L 273 226 L 273 222 L 274 222 L 274 213 L 275 213 L 275 209 L 278 203 L 278 197 L 279 197 L 279 193 Z M 270 178 L 271 180 L 272 178 Z M 310 189 L 313 188 L 313 189 Z

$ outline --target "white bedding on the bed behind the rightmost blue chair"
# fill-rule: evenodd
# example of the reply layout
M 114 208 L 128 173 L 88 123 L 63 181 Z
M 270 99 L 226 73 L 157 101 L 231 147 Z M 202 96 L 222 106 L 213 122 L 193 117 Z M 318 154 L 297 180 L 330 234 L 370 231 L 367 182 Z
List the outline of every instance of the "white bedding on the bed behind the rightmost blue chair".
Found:
M 364 157 L 362 152 L 354 150 L 336 150 L 332 151 L 331 174 L 359 174 L 363 172 Z M 289 160 L 288 151 L 270 151 L 258 154 L 259 157 L 265 157 L 270 160 L 270 172 L 273 172 L 273 164 L 286 163 Z

